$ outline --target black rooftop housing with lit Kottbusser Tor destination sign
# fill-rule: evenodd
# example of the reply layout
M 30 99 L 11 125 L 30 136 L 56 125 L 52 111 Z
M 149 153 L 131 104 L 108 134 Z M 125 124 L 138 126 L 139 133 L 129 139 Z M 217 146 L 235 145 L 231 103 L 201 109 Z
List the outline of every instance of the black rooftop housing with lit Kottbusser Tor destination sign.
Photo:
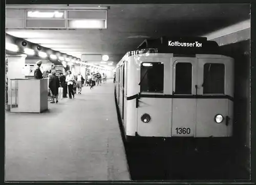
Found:
M 137 48 L 140 50 L 157 50 L 156 53 L 191 54 L 220 54 L 219 45 L 206 37 L 165 37 L 145 39 Z M 137 52 L 135 52 L 137 53 Z

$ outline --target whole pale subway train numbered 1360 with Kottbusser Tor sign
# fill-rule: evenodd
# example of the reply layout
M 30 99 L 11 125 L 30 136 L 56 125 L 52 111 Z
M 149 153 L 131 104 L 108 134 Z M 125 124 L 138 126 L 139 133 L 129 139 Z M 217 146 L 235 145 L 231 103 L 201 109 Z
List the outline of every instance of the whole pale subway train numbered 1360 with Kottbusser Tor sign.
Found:
M 234 60 L 220 54 L 217 42 L 205 37 L 146 39 L 123 56 L 115 74 L 126 141 L 232 137 Z

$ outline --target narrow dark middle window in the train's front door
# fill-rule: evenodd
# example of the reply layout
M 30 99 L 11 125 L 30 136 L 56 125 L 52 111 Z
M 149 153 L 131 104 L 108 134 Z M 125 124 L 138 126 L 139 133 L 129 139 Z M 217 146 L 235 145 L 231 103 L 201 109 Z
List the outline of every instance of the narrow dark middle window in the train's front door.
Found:
M 175 70 L 175 92 L 176 95 L 191 95 L 192 91 L 192 64 L 179 62 Z

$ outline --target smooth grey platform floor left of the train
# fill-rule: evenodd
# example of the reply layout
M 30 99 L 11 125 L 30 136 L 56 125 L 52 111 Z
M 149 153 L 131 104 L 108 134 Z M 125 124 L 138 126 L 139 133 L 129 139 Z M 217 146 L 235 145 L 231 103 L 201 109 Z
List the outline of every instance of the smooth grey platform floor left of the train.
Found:
M 6 112 L 5 180 L 130 180 L 113 80 L 44 113 Z

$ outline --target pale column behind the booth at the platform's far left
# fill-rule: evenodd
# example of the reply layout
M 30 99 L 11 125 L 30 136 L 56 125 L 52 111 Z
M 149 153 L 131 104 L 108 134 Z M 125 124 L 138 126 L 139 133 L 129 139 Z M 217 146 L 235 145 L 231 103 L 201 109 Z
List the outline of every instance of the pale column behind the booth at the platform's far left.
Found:
M 8 105 L 11 103 L 11 80 L 15 78 L 25 78 L 24 67 L 25 67 L 25 59 L 27 55 L 19 54 L 19 55 L 6 55 L 8 61 Z

